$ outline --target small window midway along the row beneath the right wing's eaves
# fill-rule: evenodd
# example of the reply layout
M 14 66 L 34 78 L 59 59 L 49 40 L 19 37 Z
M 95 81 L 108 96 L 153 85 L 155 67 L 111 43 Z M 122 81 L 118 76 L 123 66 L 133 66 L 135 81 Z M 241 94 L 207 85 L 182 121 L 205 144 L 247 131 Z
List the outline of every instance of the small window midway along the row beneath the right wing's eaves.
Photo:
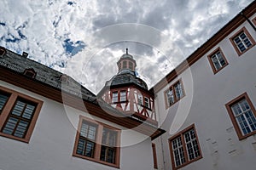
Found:
M 223 69 L 226 65 L 228 65 L 228 62 L 224 57 L 224 54 L 222 53 L 220 48 L 215 49 L 212 52 L 212 54 L 209 54 L 208 59 L 209 59 L 210 65 L 212 66 L 212 71 L 214 74 L 216 74 L 218 71 Z

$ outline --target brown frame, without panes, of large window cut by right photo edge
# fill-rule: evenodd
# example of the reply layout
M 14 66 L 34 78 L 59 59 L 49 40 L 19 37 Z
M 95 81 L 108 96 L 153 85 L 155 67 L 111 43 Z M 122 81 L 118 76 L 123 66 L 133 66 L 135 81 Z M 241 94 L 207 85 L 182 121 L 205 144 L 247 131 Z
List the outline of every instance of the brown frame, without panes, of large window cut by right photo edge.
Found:
M 228 111 L 228 114 L 230 116 L 231 122 L 233 123 L 233 126 L 235 127 L 236 134 L 237 134 L 239 140 L 246 139 L 247 137 L 252 136 L 253 134 L 256 134 L 256 130 L 252 131 L 251 133 L 242 134 L 241 127 L 239 127 L 238 123 L 236 122 L 236 117 L 234 116 L 231 106 L 237 104 L 242 99 L 246 99 L 247 104 L 250 106 L 251 111 L 253 112 L 253 115 L 256 116 L 255 108 L 254 108 L 253 103 L 247 93 L 239 95 L 238 97 L 236 97 L 235 99 L 232 99 L 229 103 L 227 103 L 225 105 L 225 107 Z

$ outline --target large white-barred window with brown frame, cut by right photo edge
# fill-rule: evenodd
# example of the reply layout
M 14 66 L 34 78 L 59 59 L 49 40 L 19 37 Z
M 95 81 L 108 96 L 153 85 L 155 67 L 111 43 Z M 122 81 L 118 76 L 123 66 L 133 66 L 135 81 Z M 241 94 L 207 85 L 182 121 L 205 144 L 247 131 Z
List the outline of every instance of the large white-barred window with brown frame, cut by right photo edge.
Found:
M 246 93 L 230 101 L 226 108 L 239 139 L 256 133 L 256 111 Z

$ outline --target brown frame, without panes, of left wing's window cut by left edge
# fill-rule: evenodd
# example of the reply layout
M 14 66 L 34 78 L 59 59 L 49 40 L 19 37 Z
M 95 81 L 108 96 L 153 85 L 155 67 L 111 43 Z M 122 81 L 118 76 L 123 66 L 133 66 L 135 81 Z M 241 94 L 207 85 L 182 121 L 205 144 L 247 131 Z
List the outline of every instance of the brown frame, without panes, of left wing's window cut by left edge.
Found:
M 19 140 L 21 142 L 29 143 L 33 129 L 36 125 L 36 122 L 38 120 L 39 112 L 41 111 L 43 101 L 39 99 L 32 98 L 26 94 L 21 94 L 19 92 L 16 92 L 15 90 L 9 89 L 9 88 L 4 88 L 0 86 L 0 91 L 3 92 L 3 94 L 9 94 L 9 99 L 7 99 L 5 105 L 3 105 L 3 110 L 0 114 L 0 136 L 9 138 L 9 139 L 15 139 Z M 26 101 L 27 103 L 33 103 L 36 105 L 35 110 L 33 112 L 33 116 L 31 121 L 29 122 L 28 127 L 26 128 L 26 133 L 24 134 L 24 137 L 20 138 L 17 136 L 14 136 L 12 134 L 8 133 L 3 133 L 3 128 L 5 124 L 8 121 L 9 116 L 11 116 L 11 111 L 13 111 L 16 101 L 18 99 L 22 99 L 23 101 Z M 27 104 L 26 103 L 26 104 Z

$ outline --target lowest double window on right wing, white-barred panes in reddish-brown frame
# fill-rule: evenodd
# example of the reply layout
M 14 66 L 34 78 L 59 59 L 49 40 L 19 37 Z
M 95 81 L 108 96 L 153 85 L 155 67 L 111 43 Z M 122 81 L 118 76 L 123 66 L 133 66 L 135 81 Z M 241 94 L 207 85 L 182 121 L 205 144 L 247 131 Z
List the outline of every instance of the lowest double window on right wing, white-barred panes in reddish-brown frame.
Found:
M 195 125 L 191 125 L 169 139 L 169 147 L 173 169 L 184 167 L 202 158 Z

